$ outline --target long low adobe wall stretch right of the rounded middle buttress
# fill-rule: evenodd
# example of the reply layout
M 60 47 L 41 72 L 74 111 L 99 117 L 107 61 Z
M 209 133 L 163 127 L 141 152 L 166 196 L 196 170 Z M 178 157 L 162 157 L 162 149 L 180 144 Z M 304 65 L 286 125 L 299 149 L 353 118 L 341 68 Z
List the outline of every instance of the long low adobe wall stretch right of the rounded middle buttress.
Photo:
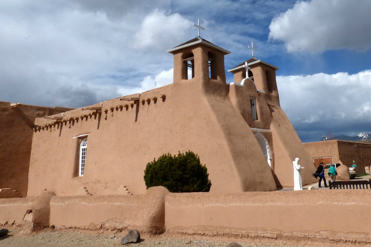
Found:
M 370 196 L 371 190 L 169 193 L 165 231 L 371 243 Z

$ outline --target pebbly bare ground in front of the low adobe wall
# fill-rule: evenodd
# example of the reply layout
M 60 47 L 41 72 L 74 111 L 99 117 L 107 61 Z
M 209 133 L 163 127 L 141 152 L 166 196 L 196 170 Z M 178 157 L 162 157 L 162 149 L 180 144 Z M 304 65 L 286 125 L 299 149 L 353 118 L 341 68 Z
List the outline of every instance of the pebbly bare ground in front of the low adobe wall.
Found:
M 18 229 L 9 229 L 7 236 L 0 238 L 0 247 L 118 247 L 121 238 L 126 233 L 97 234 L 79 231 L 44 230 L 35 233 L 22 233 Z M 142 241 L 137 244 L 127 244 L 127 247 L 226 247 L 233 239 L 196 239 L 190 236 L 141 236 Z M 253 241 L 253 240 L 251 240 Z M 290 245 L 281 243 L 239 243 L 243 247 L 309 247 L 308 245 Z M 316 245 L 318 247 L 318 245 Z

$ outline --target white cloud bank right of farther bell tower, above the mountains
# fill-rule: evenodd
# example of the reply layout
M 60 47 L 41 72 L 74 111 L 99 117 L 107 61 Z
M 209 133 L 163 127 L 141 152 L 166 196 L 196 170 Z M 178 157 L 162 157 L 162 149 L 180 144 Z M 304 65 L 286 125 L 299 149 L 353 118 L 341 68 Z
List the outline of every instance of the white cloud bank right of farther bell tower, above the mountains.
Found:
M 297 131 L 371 131 L 371 70 L 278 76 L 282 109 Z

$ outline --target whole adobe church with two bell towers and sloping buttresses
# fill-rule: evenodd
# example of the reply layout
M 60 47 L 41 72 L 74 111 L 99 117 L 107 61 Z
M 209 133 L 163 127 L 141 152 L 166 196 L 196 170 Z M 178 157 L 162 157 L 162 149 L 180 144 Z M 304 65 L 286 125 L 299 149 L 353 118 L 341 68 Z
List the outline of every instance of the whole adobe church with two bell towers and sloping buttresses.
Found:
M 252 57 L 228 70 L 227 83 L 230 51 L 198 36 L 168 52 L 173 83 L 35 119 L 27 197 L 45 189 L 144 194 L 147 163 L 188 150 L 206 165 L 212 192 L 293 187 L 296 157 L 306 168 L 303 186 L 315 182 L 313 161 L 280 107 L 277 67 Z

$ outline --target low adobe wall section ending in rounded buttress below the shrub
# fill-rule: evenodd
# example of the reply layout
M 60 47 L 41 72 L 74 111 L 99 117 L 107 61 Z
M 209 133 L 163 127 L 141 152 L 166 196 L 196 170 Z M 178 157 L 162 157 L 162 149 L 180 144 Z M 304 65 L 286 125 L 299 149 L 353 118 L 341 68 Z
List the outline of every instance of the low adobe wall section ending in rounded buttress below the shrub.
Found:
M 50 226 L 56 228 L 124 229 L 162 233 L 165 187 L 137 196 L 62 196 L 50 201 Z

